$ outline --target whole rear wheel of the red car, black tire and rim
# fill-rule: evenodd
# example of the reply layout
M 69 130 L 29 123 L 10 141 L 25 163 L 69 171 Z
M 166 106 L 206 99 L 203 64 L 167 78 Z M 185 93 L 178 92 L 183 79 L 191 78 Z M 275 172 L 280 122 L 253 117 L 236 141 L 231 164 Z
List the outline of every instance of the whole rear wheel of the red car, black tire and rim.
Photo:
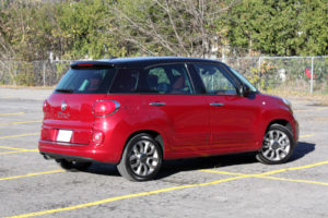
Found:
M 149 134 L 142 133 L 129 140 L 117 169 L 128 180 L 148 181 L 157 174 L 162 160 L 159 143 Z

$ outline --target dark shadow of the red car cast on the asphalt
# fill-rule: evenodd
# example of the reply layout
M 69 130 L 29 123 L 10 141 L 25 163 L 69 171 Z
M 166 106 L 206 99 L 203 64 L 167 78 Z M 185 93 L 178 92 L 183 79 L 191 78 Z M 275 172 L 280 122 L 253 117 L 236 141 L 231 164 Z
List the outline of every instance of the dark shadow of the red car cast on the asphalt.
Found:
M 302 157 L 306 156 L 307 154 L 314 150 L 315 144 L 298 142 L 294 154 L 289 160 L 289 162 L 301 159 Z M 258 160 L 255 158 L 255 153 L 165 160 L 163 161 L 162 168 L 160 170 L 159 175 L 156 177 L 156 180 L 171 177 L 181 171 L 213 169 L 237 165 L 250 165 L 255 162 L 258 162 Z M 84 172 L 110 177 L 120 177 L 115 165 L 99 162 L 93 164 Z

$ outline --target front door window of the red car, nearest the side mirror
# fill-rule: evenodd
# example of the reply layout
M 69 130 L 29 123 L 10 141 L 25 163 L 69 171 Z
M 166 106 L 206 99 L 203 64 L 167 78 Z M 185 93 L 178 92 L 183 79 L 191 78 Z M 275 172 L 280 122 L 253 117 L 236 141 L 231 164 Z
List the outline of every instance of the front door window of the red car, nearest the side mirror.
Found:
M 197 73 L 210 95 L 237 95 L 234 82 L 224 70 L 216 64 L 196 63 Z

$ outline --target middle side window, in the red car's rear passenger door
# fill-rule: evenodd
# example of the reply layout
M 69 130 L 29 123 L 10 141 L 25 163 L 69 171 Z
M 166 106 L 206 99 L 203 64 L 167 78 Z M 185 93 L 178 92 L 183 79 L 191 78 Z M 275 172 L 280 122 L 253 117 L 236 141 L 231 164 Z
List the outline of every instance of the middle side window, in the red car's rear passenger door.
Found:
M 192 94 L 191 83 L 184 64 L 167 64 L 145 71 L 143 89 L 156 94 Z

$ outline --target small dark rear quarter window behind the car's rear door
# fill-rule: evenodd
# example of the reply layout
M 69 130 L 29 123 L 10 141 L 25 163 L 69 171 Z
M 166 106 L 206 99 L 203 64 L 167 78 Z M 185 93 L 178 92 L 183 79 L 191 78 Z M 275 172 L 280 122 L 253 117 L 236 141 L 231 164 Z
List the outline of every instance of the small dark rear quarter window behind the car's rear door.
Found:
M 140 71 L 134 69 L 118 70 L 110 93 L 136 93 L 140 81 Z

